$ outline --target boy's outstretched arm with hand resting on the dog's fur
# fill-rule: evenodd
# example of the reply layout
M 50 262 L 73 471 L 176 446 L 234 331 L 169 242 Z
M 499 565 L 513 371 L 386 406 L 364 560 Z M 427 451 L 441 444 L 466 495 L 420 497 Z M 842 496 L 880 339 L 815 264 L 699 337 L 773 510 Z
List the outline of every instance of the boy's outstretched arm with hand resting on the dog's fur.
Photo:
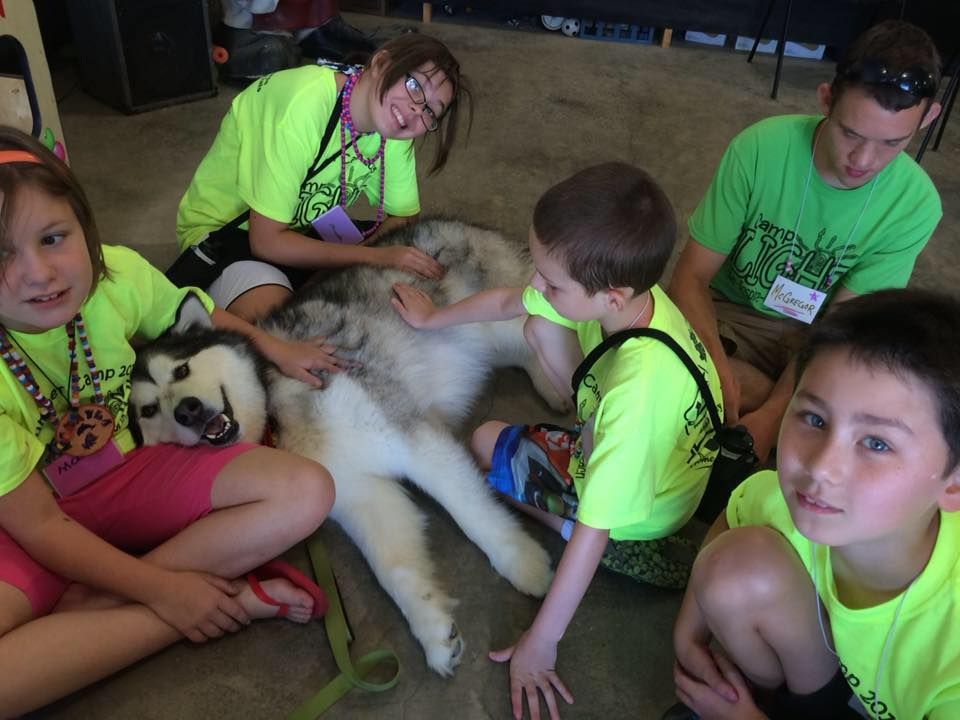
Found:
M 423 290 L 405 283 L 395 283 L 394 309 L 409 325 L 422 330 L 439 330 L 451 325 L 472 322 L 513 320 L 526 315 L 523 288 L 493 288 L 465 297 L 438 308 Z

